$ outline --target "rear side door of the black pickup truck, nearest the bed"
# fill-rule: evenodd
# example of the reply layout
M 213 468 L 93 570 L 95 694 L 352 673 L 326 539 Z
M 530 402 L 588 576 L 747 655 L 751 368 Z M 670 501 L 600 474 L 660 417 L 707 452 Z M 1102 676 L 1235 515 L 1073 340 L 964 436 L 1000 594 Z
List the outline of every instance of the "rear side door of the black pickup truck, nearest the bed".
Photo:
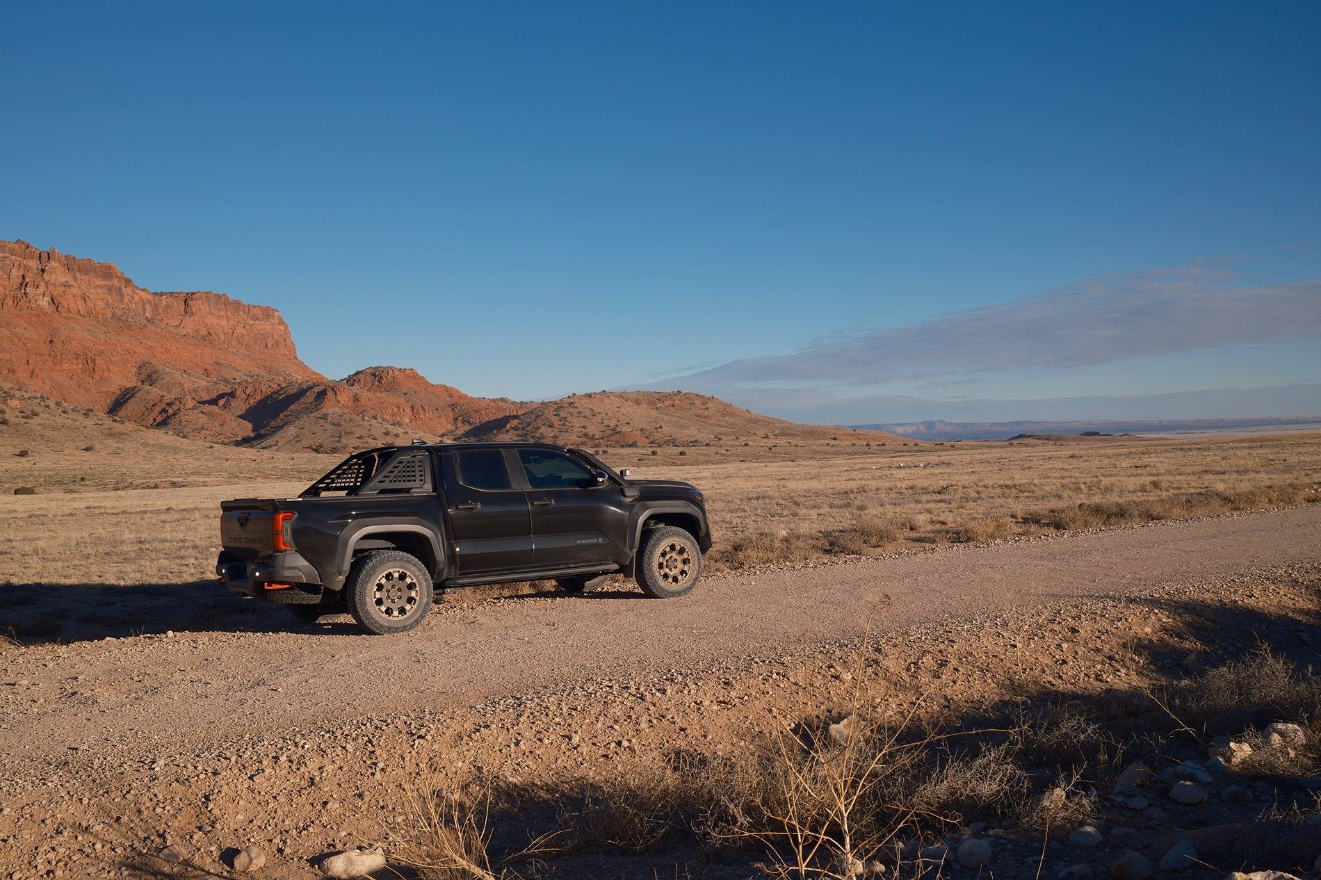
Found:
M 441 472 L 458 575 L 531 568 L 531 513 L 522 486 L 510 478 L 505 453 L 495 448 L 446 452 Z

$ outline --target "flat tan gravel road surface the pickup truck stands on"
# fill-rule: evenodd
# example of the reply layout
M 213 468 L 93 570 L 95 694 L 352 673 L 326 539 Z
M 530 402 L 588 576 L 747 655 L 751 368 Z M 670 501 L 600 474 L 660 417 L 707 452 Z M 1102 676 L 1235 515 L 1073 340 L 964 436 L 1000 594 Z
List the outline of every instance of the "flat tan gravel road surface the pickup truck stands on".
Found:
M 0 778 L 71 747 L 100 754 L 206 748 L 791 649 L 849 637 L 864 621 L 884 629 L 1317 562 L 1321 505 L 734 573 L 667 603 L 606 589 L 444 604 L 407 637 L 333 624 L 37 646 L 0 655 Z M 283 614 L 269 620 L 284 622 Z

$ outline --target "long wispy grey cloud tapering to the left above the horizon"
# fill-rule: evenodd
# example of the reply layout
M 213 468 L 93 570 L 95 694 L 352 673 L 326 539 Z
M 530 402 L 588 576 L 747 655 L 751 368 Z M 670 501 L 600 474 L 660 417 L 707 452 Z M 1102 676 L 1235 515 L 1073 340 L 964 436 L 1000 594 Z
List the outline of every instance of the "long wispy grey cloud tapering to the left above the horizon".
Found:
M 1246 287 L 1231 272 L 1189 266 L 1083 281 L 894 328 L 834 333 L 793 354 L 731 361 L 651 387 L 934 381 L 1316 338 L 1321 280 Z

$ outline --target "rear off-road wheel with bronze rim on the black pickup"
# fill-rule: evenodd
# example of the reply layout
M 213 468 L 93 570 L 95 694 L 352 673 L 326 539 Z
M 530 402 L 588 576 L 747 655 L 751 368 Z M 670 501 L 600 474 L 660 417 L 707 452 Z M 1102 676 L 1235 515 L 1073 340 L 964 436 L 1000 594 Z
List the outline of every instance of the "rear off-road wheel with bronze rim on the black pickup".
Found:
M 407 633 L 421 624 L 435 596 L 427 567 L 398 550 L 354 559 L 343 591 L 358 626 L 376 636 Z

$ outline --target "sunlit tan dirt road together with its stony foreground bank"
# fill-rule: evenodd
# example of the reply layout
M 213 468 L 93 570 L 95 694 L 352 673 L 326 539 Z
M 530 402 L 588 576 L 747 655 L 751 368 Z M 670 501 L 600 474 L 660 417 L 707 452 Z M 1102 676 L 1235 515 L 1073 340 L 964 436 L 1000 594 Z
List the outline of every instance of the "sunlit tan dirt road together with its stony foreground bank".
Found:
M 1089 654 L 1086 637 L 1071 650 L 1036 643 L 1073 625 L 1077 614 L 1058 609 L 1211 597 L 1244 572 L 1314 572 L 1318 534 L 1310 505 L 746 571 L 671 603 L 608 588 L 445 604 L 403 638 L 346 624 L 285 630 L 279 613 L 239 622 L 268 632 L 217 620 L 12 650 L 0 678 L 0 871 L 129 872 L 133 854 L 168 832 L 215 869 L 223 848 L 260 842 L 277 855 L 266 876 L 310 876 L 318 852 L 388 836 L 406 758 L 519 780 L 598 773 L 662 744 L 734 748 L 795 669 L 808 669 L 798 683 L 816 682 L 818 704 L 838 698 L 830 658 L 864 628 L 906 645 L 889 670 L 914 686 L 975 691 L 1008 670 L 1095 686 L 1132 670 Z M 1276 604 L 1291 595 L 1305 604 L 1314 583 L 1279 588 Z M 1128 608 L 1124 624 L 1151 633 L 1168 616 Z M 978 637 L 979 620 L 999 621 L 1004 638 Z M 1095 632 L 1111 647 L 1125 637 Z

